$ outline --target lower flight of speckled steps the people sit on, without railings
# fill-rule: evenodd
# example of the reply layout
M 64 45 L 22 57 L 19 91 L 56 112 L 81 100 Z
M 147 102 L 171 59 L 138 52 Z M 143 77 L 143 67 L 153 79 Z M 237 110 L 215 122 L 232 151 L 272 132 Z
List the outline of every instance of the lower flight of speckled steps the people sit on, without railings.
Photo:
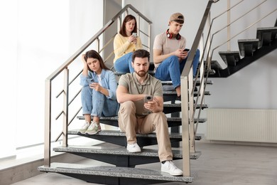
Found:
M 151 64 L 151 71 L 153 75 L 153 63 Z M 115 75 L 123 75 L 123 73 L 116 73 Z M 209 81 L 212 84 L 211 81 Z M 171 82 L 163 82 L 163 86 L 171 86 Z M 197 81 L 200 85 L 200 81 Z M 196 96 L 197 92 L 194 93 Z M 205 92 L 210 95 L 209 92 Z M 164 91 L 163 98 L 165 101 L 163 112 L 165 114 L 174 115 L 181 111 L 181 104 L 175 103 L 176 92 L 174 90 Z M 197 109 L 205 109 L 207 105 L 195 105 Z M 79 120 L 85 120 L 84 116 L 77 116 Z M 101 117 L 100 122 L 104 125 L 118 127 L 117 117 Z M 206 122 L 204 118 L 195 119 L 197 122 Z M 168 127 L 180 127 L 182 119 L 180 117 L 168 117 Z M 65 146 L 55 147 L 55 152 L 67 152 L 87 159 L 93 159 L 99 162 L 104 162 L 107 166 L 91 166 L 81 164 L 64 164 L 51 163 L 50 166 L 39 166 L 39 171 L 55 172 L 72 176 L 76 179 L 82 179 L 87 182 L 97 184 L 156 184 L 170 181 L 176 182 L 192 182 L 192 176 L 171 176 L 161 172 L 160 169 L 142 169 L 137 168 L 137 165 L 151 164 L 159 162 L 158 149 L 155 145 L 158 144 L 156 134 L 137 134 L 137 142 L 142 149 L 139 153 L 131 153 L 126 150 L 126 136 L 124 132 L 117 130 L 102 130 L 95 135 L 81 134 L 77 129 L 69 130 L 67 134 L 77 135 L 80 137 L 88 137 L 97 139 L 102 142 L 109 143 L 109 147 L 99 146 Z M 193 138 L 191 138 L 193 139 Z M 195 136 L 196 140 L 201 139 L 201 136 Z M 179 132 L 170 132 L 170 142 L 172 145 L 178 145 L 177 149 L 173 149 L 173 160 L 183 159 L 182 149 L 179 143 L 182 142 L 182 134 Z M 153 146 L 154 147 L 151 147 Z M 201 152 L 191 152 L 190 159 L 198 159 Z M 161 164 L 160 164 L 161 166 Z

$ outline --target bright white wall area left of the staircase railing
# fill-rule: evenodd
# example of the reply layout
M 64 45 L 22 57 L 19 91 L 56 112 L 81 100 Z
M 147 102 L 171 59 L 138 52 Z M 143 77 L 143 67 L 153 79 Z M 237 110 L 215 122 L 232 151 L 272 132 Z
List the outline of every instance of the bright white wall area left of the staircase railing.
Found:
M 44 142 L 45 79 L 102 28 L 103 1 L 5 1 L 0 15 L 2 158 Z

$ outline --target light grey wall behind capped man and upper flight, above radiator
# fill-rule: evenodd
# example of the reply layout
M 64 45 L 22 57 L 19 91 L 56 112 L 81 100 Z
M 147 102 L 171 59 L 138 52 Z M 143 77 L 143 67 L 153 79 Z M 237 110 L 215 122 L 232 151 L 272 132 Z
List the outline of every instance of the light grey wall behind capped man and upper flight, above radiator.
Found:
M 231 5 L 234 5 L 237 2 L 239 1 L 232 0 Z M 260 2 L 261 0 L 243 1 L 243 3 L 237 6 L 237 8 L 232 9 L 231 21 L 239 18 L 244 12 L 249 11 Z M 168 28 L 168 19 L 170 15 L 175 12 L 181 12 L 185 16 L 185 23 L 180 34 L 187 38 L 188 48 L 190 48 L 205 11 L 205 7 L 207 6 L 207 1 L 175 0 L 169 2 L 167 0 L 126 0 L 126 4 L 132 4 L 136 9 L 153 21 L 152 44 L 154 36 L 166 31 Z M 159 6 L 157 6 L 157 4 Z M 259 9 L 256 9 L 256 11 L 247 14 L 243 21 L 233 23 L 231 36 L 235 36 L 242 31 L 241 25 L 243 25 L 244 28 L 251 25 L 254 21 L 276 9 L 276 6 L 276 0 L 268 0 L 265 4 L 261 5 Z M 227 1 L 217 2 L 217 4 L 212 6 L 211 17 L 214 18 L 214 16 L 221 14 L 226 9 Z M 256 28 L 263 26 L 271 27 L 275 23 L 276 18 L 277 12 L 274 12 L 270 16 L 264 18 L 263 21 L 257 23 L 253 28 L 249 28 L 246 32 L 232 39 L 231 50 L 239 50 L 237 43 L 238 39 L 256 38 Z M 212 28 L 212 31 L 218 31 L 220 28 L 223 28 L 226 23 L 227 14 L 224 14 L 224 16 L 214 20 L 214 28 Z M 224 29 L 222 32 L 219 32 L 214 36 L 214 44 L 212 46 L 219 46 L 226 41 L 226 38 L 227 31 Z M 223 68 L 226 68 L 226 65 L 224 65 L 224 62 L 218 55 L 218 51 L 227 51 L 227 45 L 225 44 L 215 50 L 213 58 L 213 60 L 218 60 Z M 210 91 L 211 95 L 205 97 L 205 103 L 213 108 L 277 109 L 276 56 L 277 50 L 260 58 L 254 63 L 251 63 L 251 65 L 246 66 L 228 78 L 211 78 L 210 80 L 212 80 L 214 84 L 208 85 L 207 87 L 207 90 Z M 200 125 L 198 131 L 199 133 L 205 133 L 205 124 Z

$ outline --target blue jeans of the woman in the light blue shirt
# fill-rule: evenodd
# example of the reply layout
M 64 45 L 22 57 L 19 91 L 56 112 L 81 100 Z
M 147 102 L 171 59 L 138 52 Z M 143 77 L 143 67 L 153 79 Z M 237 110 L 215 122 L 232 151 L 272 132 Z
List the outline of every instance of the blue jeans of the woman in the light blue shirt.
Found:
M 81 93 L 82 114 L 97 117 L 115 116 L 119 111 L 119 103 L 116 100 L 108 99 L 89 86 L 84 86 Z

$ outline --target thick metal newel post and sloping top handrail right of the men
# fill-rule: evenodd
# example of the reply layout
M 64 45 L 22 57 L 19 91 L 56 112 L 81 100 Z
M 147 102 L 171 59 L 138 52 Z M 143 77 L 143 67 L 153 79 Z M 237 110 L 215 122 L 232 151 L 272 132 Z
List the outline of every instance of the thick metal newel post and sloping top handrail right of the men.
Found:
M 196 50 L 201 40 L 205 23 L 208 21 L 210 15 L 210 9 L 213 3 L 217 1 L 208 1 L 205 13 L 202 17 L 202 21 L 197 30 L 195 40 L 192 43 L 190 49 L 190 55 L 185 63 L 185 68 L 181 74 L 181 95 L 182 95 L 182 143 L 183 143 L 183 176 L 190 176 L 190 149 L 194 150 L 194 118 L 192 117 L 194 105 L 193 105 L 193 86 L 192 86 L 192 60 L 195 56 Z M 203 68 L 203 67 L 202 67 Z M 195 81 L 197 77 L 195 78 Z M 188 93 L 189 92 L 189 93 Z M 195 151 L 193 151 L 195 152 Z

